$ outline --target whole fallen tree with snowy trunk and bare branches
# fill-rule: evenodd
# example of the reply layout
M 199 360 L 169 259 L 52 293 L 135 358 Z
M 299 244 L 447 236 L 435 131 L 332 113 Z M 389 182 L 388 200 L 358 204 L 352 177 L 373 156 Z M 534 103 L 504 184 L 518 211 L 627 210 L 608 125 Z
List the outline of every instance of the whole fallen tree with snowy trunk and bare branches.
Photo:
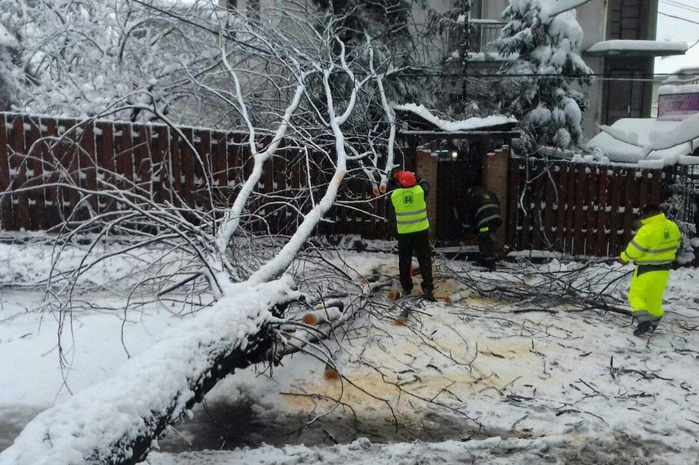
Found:
M 230 21 L 222 21 L 224 15 L 229 15 Z M 352 169 L 365 171 L 352 168 L 369 156 L 354 145 L 366 138 L 373 138 L 375 145 L 382 143 L 380 133 L 357 134 L 363 128 L 373 131 L 377 124 L 386 124 L 364 121 L 365 109 L 358 108 L 361 89 L 375 82 L 377 75 L 385 78 L 399 68 L 385 54 L 381 64 L 372 61 L 368 66 L 368 50 L 373 47 L 370 40 L 363 48 L 347 51 L 340 40 L 337 28 L 341 18 L 337 16 L 309 18 L 289 10 L 282 15 L 288 27 L 281 27 L 278 18 L 250 22 L 234 12 L 212 19 L 207 27 L 215 34 L 207 36 L 206 46 L 218 50 L 216 64 L 208 74 L 189 73 L 189 83 L 209 98 L 226 103 L 228 112 L 237 115 L 246 130 L 243 144 L 250 151 L 250 160 L 243 170 L 244 179 L 235 186 L 232 205 L 228 198 L 215 201 L 218 179 L 205 160 L 212 154 L 200 154 L 194 142 L 185 142 L 184 149 L 194 154 L 193 169 L 201 173 L 198 195 L 207 199 L 211 210 L 187 204 L 176 192 L 163 198 L 152 181 L 143 184 L 137 177 L 127 179 L 108 166 L 86 170 L 82 142 L 92 137 L 85 131 L 92 119 L 38 140 L 26 153 L 13 154 L 22 159 L 24 170 L 18 170 L 22 176 L 29 173 L 27 166 L 42 169 L 31 170 L 34 178 L 31 174 L 27 179 L 15 177 L 1 195 L 57 191 L 73 195 L 73 205 L 80 205 L 79 212 L 76 209 L 66 214 L 62 225 L 53 231 L 58 233 L 53 258 L 56 271 L 45 283 L 50 296 L 48 310 L 60 315 L 62 325 L 69 324 L 67 316 L 75 307 L 73 296 L 93 267 L 110 257 L 147 247 L 159 248 L 161 255 L 150 265 L 150 275 L 134 288 L 149 287 L 162 296 L 192 286 L 178 303 L 194 307 L 194 316 L 106 381 L 38 415 L 0 454 L 3 464 L 139 462 L 166 427 L 187 415 L 217 381 L 236 369 L 278 361 L 286 353 L 303 350 L 361 309 L 362 291 L 357 286 L 334 297 L 343 304 L 334 313 L 333 323 L 300 326 L 284 312 L 289 305 L 303 302 L 285 273 L 333 205 L 347 173 Z M 191 71 L 187 64 L 182 66 Z M 261 75 L 275 77 L 259 80 Z M 149 90 L 136 91 L 106 106 L 96 118 L 125 111 L 148 114 L 168 124 L 171 131 L 180 134 L 180 140 L 188 141 Z M 265 163 L 278 155 L 282 141 L 286 149 L 298 151 L 305 165 L 318 167 L 326 175 L 311 179 L 309 172 L 304 189 L 277 200 L 299 217 L 290 236 L 265 233 L 266 214 L 259 205 L 266 199 L 255 192 Z M 150 158 L 151 179 L 176 182 L 178 159 L 172 152 L 166 158 Z M 374 164 L 371 169 L 380 168 Z M 47 179 L 41 179 L 44 174 Z M 82 182 L 87 176 L 94 176 L 97 189 Z M 116 203 L 119 208 L 101 209 L 104 202 Z M 261 232 L 259 223 L 263 225 Z M 125 236 L 129 239 L 117 241 L 119 245 L 113 250 L 102 251 L 99 246 L 105 239 Z M 89 244 L 80 264 L 73 270 L 59 271 L 57 264 L 66 244 L 85 237 Z M 210 299 L 195 305 L 189 298 L 194 293 Z M 127 306 L 124 313 L 128 310 Z M 289 325 L 295 330 L 289 330 Z M 62 333 L 60 330 L 59 335 Z M 69 369 L 60 340 L 59 360 Z

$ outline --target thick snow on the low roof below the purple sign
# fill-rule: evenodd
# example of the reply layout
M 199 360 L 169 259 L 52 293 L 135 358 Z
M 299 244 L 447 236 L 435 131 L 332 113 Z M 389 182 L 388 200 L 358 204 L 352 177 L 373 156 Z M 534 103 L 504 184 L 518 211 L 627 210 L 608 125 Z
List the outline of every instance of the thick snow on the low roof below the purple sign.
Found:
M 637 163 L 642 168 L 696 164 L 690 156 L 699 147 L 699 115 L 684 121 L 653 118 L 624 118 L 603 126 L 588 147 L 603 152 L 610 161 Z

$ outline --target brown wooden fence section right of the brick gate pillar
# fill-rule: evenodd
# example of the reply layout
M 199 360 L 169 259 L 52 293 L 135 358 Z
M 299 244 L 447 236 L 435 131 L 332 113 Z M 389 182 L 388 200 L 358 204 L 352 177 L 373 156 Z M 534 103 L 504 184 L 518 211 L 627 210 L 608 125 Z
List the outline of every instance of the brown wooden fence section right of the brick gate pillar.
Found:
M 665 200 L 674 172 L 513 158 L 507 240 L 517 250 L 616 256 L 638 207 Z

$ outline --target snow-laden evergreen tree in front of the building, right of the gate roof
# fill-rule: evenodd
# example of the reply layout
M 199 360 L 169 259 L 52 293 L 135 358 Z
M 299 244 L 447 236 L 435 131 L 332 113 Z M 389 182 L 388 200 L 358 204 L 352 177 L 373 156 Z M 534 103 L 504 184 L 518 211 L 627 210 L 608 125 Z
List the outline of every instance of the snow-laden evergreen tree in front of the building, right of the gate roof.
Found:
M 552 0 L 510 0 L 508 24 L 496 42 L 500 54 L 516 57 L 500 68 L 500 109 L 521 121 L 524 149 L 544 143 L 566 148 L 582 143 L 586 96 L 575 89 L 591 82 L 579 55 L 582 29 L 575 12 L 549 13 Z

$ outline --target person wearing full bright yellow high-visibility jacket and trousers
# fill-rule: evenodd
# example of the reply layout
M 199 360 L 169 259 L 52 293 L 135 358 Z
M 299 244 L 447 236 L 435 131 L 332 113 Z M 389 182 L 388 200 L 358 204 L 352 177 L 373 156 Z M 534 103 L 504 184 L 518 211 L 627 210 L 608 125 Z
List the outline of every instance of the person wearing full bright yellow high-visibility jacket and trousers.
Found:
M 654 331 L 663 318 L 663 293 L 681 239 L 677 225 L 665 218 L 658 205 L 645 205 L 639 221 L 638 232 L 619 257 L 623 265 L 636 265 L 628 291 L 633 319 L 638 322 L 635 336 Z

